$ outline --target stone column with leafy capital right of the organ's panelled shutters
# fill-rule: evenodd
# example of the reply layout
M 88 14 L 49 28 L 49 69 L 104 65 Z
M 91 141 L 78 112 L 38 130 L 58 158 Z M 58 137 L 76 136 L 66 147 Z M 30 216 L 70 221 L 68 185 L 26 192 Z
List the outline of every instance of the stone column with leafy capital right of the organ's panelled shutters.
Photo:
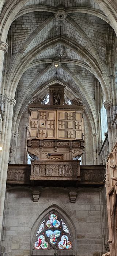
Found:
M 107 128 L 108 128 L 108 138 L 109 138 L 109 151 L 113 148 L 113 138 L 112 138 L 112 127 L 111 127 L 111 116 L 110 107 L 112 106 L 112 100 L 109 99 L 103 103 L 106 113 L 107 113 Z

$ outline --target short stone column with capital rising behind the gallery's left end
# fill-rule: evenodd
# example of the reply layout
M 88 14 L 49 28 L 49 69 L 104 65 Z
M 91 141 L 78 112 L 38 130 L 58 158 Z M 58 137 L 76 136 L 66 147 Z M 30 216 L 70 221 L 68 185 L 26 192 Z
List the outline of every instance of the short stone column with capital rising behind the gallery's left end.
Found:
M 19 133 L 12 131 L 11 158 L 10 163 L 15 163 Z

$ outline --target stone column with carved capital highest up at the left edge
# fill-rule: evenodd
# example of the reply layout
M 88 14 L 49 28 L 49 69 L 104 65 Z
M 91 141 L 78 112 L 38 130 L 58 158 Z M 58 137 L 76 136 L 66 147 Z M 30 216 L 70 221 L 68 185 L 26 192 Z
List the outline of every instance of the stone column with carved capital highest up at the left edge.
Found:
M 3 72 L 4 53 L 7 52 L 8 44 L 0 41 L 0 94 L 1 94 L 1 80 Z

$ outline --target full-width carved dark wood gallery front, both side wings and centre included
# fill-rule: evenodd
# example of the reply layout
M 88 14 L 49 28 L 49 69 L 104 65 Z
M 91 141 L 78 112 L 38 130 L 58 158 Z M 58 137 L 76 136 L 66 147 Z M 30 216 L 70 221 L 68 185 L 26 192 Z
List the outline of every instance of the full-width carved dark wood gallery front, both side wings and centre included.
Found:
M 32 165 L 8 165 L 7 184 L 31 184 L 31 181 L 74 181 L 102 184 L 104 166 L 81 166 L 80 161 L 32 161 Z M 91 170 L 92 168 L 92 170 Z M 81 176 L 81 177 L 80 177 Z M 31 180 L 31 181 L 30 181 Z

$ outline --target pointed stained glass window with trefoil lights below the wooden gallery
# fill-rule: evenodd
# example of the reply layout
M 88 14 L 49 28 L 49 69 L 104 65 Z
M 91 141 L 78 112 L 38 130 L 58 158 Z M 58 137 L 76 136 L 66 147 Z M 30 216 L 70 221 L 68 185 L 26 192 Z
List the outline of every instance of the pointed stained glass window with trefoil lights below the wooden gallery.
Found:
M 71 235 L 67 225 L 57 214 L 49 214 L 38 227 L 34 240 L 35 250 L 72 249 Z

